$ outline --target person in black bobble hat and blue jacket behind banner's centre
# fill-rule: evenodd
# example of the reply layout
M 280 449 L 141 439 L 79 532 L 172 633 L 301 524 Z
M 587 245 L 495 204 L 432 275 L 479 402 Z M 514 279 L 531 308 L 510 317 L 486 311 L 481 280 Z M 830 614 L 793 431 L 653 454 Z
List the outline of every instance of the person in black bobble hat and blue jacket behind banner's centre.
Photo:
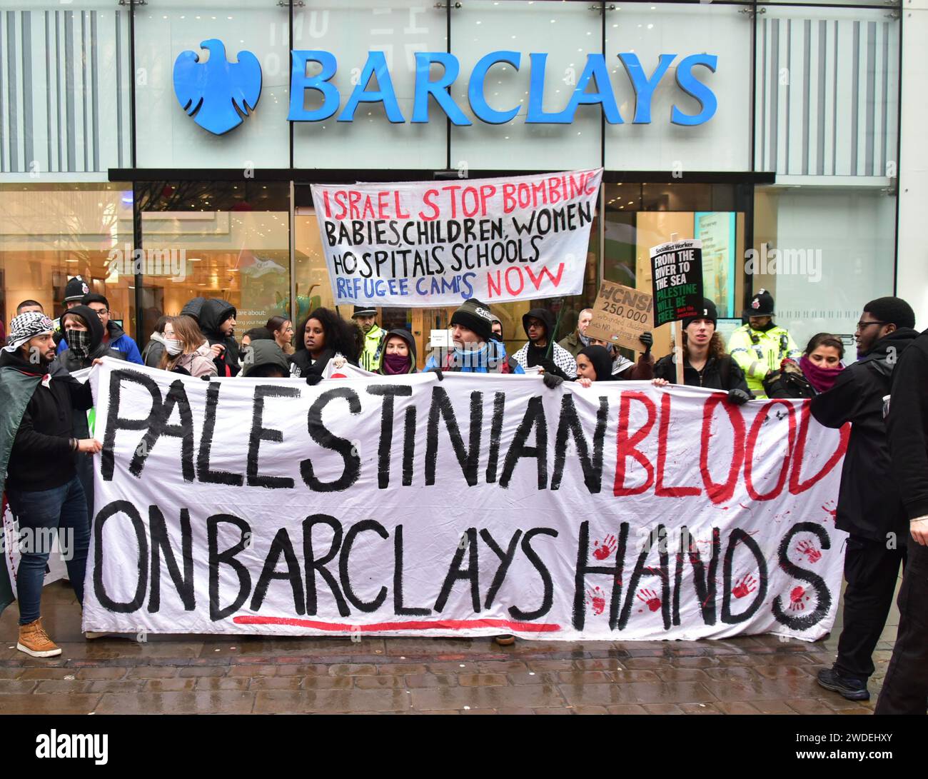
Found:
M 471 298 L 458 306 L 451 315 L 451 340 L 454 349 L 444 357 L 432 355 L 425 370 L 461 371 L 464 373 L 524 373 L 512 357 L 506 357 L 506 347 L 493 338 L 492 319 L 488 306 Z M 553 374 L 552 374 L 553 375 Z

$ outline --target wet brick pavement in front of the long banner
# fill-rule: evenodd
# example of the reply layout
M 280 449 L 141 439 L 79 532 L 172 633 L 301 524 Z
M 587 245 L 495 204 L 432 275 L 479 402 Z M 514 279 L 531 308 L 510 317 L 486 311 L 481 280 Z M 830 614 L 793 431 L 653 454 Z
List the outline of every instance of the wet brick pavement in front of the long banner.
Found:
M 840 613 L 839 613 L 840 614 Z M 870 701 L 818 687 L 841 628 L 817 643 L 746 636 L 696 642 L 490 639 L 84 639 L 70 587 L 45 588 L 43 622 L 63 654 L 16 650 L 0 619 L 0 713 L 869 714 L 892 654 L 894 606 Z

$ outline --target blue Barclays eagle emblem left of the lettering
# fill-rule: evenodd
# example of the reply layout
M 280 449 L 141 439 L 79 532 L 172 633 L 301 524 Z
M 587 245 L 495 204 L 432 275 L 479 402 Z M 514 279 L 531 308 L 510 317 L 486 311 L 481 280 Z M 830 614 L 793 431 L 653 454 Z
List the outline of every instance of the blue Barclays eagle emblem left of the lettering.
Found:
M 174 60 L 174 95 L 200 127 L 221 136 L 258 105 L 261 63 L 250 51 L 239 51 L 238 62 L 229 62 L 226 45 L 215 38 L 200 48 L 210 52 L 205 62 L 193 51 L 182 51 Z

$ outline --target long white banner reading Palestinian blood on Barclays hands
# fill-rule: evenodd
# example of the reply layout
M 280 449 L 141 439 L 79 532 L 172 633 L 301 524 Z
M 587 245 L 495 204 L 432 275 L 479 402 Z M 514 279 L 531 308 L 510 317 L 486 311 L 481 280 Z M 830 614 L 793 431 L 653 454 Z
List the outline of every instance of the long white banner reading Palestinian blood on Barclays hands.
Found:
M 814 640 L 848 431 L 802 401 L 106 360 L 84 630 Z

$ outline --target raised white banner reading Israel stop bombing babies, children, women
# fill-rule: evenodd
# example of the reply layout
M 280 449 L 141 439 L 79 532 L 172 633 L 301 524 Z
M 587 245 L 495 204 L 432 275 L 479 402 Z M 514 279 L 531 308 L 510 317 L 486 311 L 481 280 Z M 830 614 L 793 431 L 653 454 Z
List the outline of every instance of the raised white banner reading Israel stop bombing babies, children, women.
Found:
M 336 305 L 505 303 L 583 289 L 602 168 L 312 185 Z

